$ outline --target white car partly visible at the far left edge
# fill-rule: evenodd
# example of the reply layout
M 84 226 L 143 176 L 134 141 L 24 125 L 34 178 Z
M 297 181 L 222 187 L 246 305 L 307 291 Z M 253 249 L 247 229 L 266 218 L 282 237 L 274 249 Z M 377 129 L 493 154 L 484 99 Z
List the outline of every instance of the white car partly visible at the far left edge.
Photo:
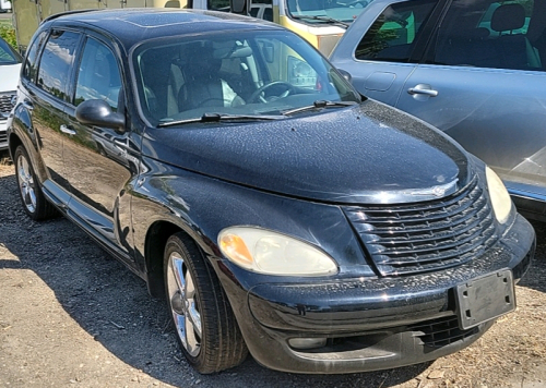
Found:
M 8 148 L 5 121 L 13 105 L 21 72 L 22 58 L 5 40 L 0 38 L 0 151 Z

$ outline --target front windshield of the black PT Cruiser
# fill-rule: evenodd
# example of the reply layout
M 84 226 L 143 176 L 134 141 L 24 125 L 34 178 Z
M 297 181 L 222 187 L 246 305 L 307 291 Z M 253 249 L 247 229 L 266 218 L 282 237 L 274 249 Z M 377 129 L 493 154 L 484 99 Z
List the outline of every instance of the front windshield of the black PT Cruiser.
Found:
M 283 118 L 302 107 L 310 109 L 296 112 L 360 101 L 314 48 L 289 32 L 153 40 L 134 51 L 133 66 L 142 112 L 159 126 L 218 116 Z

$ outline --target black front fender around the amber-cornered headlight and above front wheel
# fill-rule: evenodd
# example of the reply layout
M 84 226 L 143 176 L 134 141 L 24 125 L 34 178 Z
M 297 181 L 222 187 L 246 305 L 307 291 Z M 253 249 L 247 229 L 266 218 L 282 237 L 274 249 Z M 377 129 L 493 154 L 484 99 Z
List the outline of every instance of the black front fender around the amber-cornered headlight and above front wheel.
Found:
M 256 226 L 319 247 L 337 262 L 340 275 L 373 276 L 339 206 L 265 193 L 152 159 L 143 161 L 147 172 L 140 177 L 132 201 L 135 252 L 141 263 L 145 262 L 149 231 L 157 222 L 183 230 L 211 260 L 223 259 L 217 235 L 224 228 Z

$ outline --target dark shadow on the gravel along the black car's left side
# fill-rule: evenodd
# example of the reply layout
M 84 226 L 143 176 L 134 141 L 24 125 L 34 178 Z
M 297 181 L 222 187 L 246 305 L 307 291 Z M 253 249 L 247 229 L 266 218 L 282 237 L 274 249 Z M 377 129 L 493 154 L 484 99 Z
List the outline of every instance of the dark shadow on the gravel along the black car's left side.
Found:
M 313 376 L 270 371 L 251 356 L 237 368 L 201 376 L 183 361 L 163 301 L 144 281 L 98 247 L 70 221 L 33 222 L 20 204 L 14 175 L 0 178 L 0 244 L 16 259 L 3 268 L 35 272 L 69 315 L 115 356 L 164 383 L 187 387 L 390 387 L 430 364 L 368 374 Z

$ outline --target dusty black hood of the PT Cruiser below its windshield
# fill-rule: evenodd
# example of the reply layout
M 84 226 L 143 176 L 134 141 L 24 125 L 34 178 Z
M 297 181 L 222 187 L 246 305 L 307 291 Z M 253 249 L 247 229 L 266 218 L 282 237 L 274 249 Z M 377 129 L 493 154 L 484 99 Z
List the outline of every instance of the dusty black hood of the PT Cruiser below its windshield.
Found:
M 144 143 L 145 154 L 183 169 L 330 203 L 426 201 L 468 180 L 456 143 L 372 100 L 286 120 L 163 128 Z

